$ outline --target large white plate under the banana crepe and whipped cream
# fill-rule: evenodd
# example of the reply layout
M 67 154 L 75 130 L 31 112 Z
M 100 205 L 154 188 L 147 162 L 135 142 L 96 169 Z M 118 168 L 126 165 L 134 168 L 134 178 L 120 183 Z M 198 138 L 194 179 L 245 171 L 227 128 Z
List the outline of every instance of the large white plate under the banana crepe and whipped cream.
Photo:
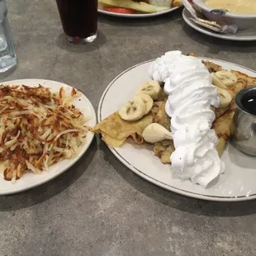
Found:
M 254 70 L 217 59 L 208 60 L 220 64 L 224 69 L 236 69 L 256 76 Z M 120 109 L 134 97 L 137 88 L 149 80 L 150 63 L 151 61 L 147 61 L 127 69 L 109 84 L 99 103 L 99 121 Z M 162 164 L 150 147 L 126 143 L 121 148 L 111 149 L 111 152 L 142 178 L 188 197 L 212 201 L 244 201 L 256 198 L 256 158 L 240 153 L 232 145 L 227 146 L 221 157 L 225 162 L 225 173 L 208 188 L 172 178 L 171 165 Z

